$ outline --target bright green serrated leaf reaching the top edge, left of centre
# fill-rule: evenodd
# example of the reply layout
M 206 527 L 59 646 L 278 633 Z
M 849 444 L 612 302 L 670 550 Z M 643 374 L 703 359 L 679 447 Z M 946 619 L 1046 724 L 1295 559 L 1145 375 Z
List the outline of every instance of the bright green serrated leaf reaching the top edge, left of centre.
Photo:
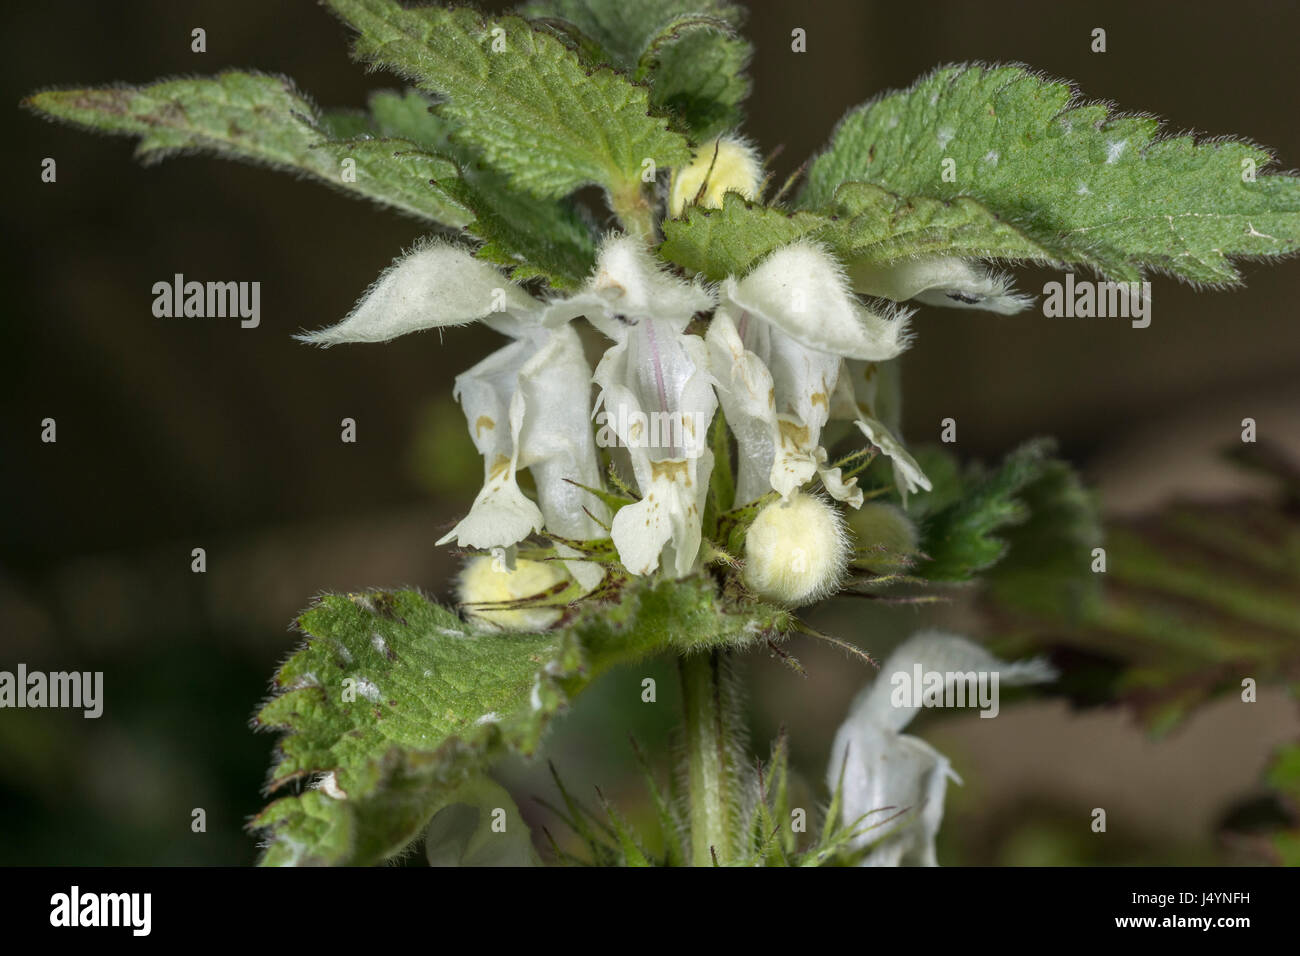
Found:
M 328 3 L 359 31 L 358 59 L 446 98 L 437 109 L 455 124 L 452 142 L 472 146 L 519 189 L 541 198 L 592 182 L 623 191 L 640 186 L 645 159 L 689 159 L 685 138 L 650 114 L 644 87 L 586 69 L 525 20 L 394 0 Z

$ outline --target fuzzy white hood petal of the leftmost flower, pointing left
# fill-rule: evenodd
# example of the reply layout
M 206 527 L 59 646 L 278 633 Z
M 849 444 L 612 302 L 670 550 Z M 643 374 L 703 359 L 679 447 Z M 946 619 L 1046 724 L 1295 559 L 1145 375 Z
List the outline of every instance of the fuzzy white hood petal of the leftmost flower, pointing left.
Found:
M 519 316 L 540 310 L 491 264 L 446 242 L 425 242 L 374 281 L 347 317 L 328 329 L 298 336 L 304 342 L 387 342 L 408 332 L 464 325 L 493 317 L 514 334 Z

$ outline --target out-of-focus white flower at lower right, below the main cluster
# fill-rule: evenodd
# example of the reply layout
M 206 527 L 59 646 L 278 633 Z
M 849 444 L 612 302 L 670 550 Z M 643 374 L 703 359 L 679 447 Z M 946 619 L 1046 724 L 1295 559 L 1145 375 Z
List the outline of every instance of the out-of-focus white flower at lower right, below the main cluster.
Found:
M 835 735 L 827 769 L 828 786 L 835 790 L 844 767 L 844 823 L 881 823 L 854 840 L 857 848 L 871 845 L 863 866 L 936 866 L 935 835 L 944 818 L 948 780 L 961 783 L 944 754 L 902 734 L 920 705 L 898 700 L 894 682 L 896 675 L 914 672 L 942 675 L 944 693 L 957 680 L 968 680 L 971 672 L 996 674 L 1005 687 L 1056 676 L 1041 659 L 1005 663 L 965 637 L 939 631 L 923 631 L 900 645 L 853 702 Z

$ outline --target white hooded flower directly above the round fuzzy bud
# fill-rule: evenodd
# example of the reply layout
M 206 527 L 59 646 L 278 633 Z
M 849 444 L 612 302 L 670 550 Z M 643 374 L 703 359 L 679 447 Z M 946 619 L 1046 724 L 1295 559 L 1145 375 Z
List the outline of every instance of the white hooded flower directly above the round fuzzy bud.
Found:
M 736 501 L 788 497 L 814 476 L 832 497 L 862 503 L 855 481 L 827 467 L 822 428 L 844 359 L 892 359 L 907 347 L 907 313 L 863 308 L 838 264 L 812 243 L 772 252 L 728 277 L 707 341 L 718 394 L 740 449 Z

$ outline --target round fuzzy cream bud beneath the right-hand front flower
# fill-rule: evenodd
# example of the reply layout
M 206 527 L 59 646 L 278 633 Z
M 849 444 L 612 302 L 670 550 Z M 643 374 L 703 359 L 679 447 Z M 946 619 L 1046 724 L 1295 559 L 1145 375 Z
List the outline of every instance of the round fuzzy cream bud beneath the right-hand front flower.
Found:
M 836 589 L 849 559 L 840 511 L 805 492 L 758 512 L 745 537 L 745 585 L 784 605 L 800 606 Z

